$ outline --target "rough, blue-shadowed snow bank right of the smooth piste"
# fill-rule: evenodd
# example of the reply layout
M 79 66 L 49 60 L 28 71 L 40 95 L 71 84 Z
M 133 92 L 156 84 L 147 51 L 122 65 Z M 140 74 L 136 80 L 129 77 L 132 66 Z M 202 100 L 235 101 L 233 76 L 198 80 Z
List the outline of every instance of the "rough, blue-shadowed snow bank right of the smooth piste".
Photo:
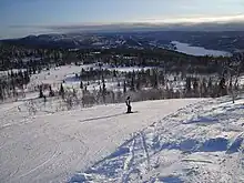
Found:
M 243 99 L 202 101 L 134 133 L 70 182 L 242 183 L 243 126 Z

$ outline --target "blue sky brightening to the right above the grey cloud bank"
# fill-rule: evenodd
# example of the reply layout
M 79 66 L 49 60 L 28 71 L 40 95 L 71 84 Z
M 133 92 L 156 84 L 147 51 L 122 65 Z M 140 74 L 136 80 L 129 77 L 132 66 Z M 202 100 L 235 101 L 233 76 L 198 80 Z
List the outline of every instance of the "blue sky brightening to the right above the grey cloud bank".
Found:
M 0 0 L 0 39 L 113 23 L 244 21 L 244 0 Z

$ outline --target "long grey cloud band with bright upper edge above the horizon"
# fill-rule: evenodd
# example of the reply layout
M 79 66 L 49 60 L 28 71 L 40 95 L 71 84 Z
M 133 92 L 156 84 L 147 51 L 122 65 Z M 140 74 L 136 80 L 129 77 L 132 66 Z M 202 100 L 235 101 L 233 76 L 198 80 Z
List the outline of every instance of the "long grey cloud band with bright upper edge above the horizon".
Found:
M 233 30 L 243 30 L 244 14 L 235 16 L 194 16 L 184 18 L 151 18 L 144 20 L 135 20 L 128 22 L 111 22 L 111 23 L 67 23 L 54 26 L 11 26 L 11 29 L 18 30 L 35 30 L 35 32 L 78 32 L 78 31 L 102 31 L 102 30 L 129 30 L 129 29 L 150 29 L 150 28 L 165 28 L 165 29 L 182 29 L 192 26 L 199 26 L 201 29 L 225 30 L 225 24 L 233 24 Z

